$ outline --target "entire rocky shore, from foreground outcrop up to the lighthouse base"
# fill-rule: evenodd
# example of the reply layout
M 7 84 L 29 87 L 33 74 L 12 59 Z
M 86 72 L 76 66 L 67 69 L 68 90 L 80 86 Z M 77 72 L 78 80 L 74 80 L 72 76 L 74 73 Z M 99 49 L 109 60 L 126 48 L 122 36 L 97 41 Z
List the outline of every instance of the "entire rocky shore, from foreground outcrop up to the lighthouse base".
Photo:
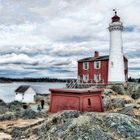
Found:
M 105 112 L 50 114 L 0 100 L 2 140 L 139 140 L 140 85 L 113 85 L 103 93 Z

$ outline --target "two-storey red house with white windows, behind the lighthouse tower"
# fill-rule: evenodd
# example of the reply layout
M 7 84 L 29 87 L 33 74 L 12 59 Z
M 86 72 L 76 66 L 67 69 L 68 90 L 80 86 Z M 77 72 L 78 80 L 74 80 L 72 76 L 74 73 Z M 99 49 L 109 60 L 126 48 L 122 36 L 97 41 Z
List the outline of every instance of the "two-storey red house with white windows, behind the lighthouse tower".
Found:
M 99 56 L 95 51 L 93 57 L 78 61 L 78 79 L 84 83 L 108 83 L 109 55 Z M 125 80 L 128 80 L 128 60 L 124 56 Z M 118 66 L 119 67 L 119 66 Z M 117 74 L 117 73 L 116 73 Z

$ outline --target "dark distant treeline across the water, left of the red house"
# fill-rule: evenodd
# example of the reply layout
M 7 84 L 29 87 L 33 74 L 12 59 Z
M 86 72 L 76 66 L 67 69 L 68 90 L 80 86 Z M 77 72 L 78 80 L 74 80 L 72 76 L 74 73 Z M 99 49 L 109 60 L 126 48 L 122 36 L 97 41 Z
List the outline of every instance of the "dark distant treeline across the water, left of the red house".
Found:
M 0 82 L 66 82 L 69 79 L 58 79 L 58 78 L 6 78 L 0 77 Z

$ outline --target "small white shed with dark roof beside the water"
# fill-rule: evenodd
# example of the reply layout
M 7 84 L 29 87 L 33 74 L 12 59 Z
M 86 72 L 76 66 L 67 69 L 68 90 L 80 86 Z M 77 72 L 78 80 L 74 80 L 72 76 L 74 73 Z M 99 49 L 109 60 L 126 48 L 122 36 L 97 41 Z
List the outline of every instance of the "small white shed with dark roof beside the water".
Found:
M 28 85 L 21 85 L 16 90 L 15 101 L 20 101 L 24 103 L 34 103 L 36 92 Z

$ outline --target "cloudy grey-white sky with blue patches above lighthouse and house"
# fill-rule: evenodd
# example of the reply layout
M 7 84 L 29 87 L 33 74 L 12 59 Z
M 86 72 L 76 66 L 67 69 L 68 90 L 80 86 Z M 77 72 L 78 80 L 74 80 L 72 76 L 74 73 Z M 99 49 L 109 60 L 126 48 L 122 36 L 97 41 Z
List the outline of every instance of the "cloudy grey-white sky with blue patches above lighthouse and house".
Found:
M 77 77 L 77 60 L 109 54 L 112 11 L 129 76 L 140 77 L 139 0 L 0 0 L 0 77 Z

